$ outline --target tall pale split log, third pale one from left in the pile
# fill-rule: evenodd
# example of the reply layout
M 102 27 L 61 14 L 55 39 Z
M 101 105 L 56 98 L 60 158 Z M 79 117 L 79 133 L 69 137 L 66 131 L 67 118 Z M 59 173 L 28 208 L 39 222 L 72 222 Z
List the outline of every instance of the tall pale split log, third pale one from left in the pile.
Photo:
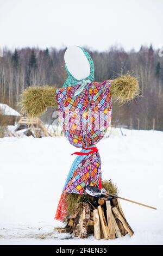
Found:
M 115 227 L 114 227 L 113 215 L 111 212 L 110 201 L 106 201 L 106 215 L 107 215 L 108 228 L 109 228 L 109 238 L 115 239 L 116 238 Z

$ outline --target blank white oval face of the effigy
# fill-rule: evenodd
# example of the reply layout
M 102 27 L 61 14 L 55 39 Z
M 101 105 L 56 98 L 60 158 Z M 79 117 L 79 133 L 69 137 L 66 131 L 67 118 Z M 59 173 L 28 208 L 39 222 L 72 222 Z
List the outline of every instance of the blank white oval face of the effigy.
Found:
M 78 46 L 68 47 L 64 58 L 68 71 L 77 80 L 85 79 L 90 75 L 90 63 Z

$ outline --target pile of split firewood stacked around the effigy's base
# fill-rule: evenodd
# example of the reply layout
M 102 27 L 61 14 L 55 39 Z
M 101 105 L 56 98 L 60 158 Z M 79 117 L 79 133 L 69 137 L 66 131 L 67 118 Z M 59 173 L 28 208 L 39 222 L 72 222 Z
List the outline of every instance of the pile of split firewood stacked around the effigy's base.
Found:
M 80 238 L 93 233 L 95 239 L 105 240 L 125 236 L 127 233 L 130 236 L 134 234 L 126 221 L 119 199 L 99 199 L 98 206 L 93 206 L 89 202 L 77 203 L 66 227 L 55 228 L 55 231 L 72 233 Z

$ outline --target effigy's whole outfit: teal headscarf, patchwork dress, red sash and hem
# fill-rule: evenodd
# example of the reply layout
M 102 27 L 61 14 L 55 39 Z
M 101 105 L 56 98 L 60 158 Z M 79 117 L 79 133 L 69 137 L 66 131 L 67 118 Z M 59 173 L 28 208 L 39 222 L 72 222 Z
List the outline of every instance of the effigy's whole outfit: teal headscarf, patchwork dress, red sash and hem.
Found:
M 111 121 L 111 80 L 93 82 L 93 61 L 83 48 L 90 63 L 90 76 L 76 80 L 68 71 L 68 78 L 57 90 L 58 113 L 62 130 L 74 147 L 82 149 L 75 152 L 55 214 L 55 219 L 64 221 L 67 212 L 67 193 L 84 194 L 87 185 L 101 188 L 101 157 L 96 144 L 105 135 Z

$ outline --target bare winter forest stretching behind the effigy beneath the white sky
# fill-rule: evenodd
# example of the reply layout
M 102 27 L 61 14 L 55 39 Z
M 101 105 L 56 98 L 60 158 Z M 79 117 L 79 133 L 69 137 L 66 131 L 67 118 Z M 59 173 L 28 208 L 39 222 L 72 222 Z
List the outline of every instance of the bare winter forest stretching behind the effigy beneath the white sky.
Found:
M 163 57 L 159 50 L 141 46 L 126 52 L 111 47 L 98 52 L 86 49 L 95 63 L 95 81 L 105 81 L 128 71 L 139 79 L 141 96 L 123 106 L 113 104 L 112 124 L 130 128 L 163 130 Z M 14 52 L 4 48 L 0 57 L 0 103 L 17 109 L 23 89 L 45 84 L 61 87 L 67 74 L 64 67 L 65 48 L 21 48 Z M 51 112 L 50 112 L 51 113 Z M 44 115 L 49 120 L 49 115 Z

